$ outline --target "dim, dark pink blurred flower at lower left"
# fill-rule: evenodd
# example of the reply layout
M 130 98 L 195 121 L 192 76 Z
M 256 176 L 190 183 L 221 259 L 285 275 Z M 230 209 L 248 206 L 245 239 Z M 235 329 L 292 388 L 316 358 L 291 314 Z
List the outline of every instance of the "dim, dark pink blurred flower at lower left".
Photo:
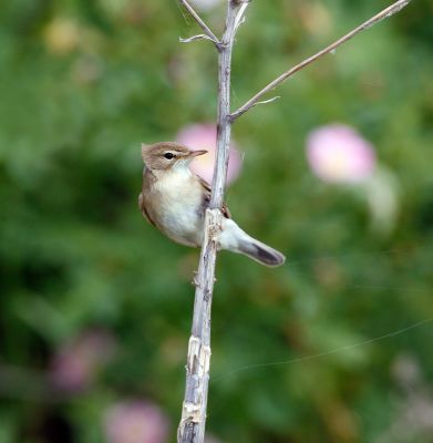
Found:
M 97 371 L 114 351 L 114 339 L 105 331 L 87 331 L 63 346 L 54 356 L 51 381 L 56 388 L 81 391 L 87 388 Z

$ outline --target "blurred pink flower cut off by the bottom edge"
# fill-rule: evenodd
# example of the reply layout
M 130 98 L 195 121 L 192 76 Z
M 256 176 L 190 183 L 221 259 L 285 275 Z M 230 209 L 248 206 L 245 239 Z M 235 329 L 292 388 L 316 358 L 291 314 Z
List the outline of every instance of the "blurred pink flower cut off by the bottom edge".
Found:
M 126 401 L 106 411 L 104 431 L 107 443 L 165 443 L 168 420 L 152 403 Z

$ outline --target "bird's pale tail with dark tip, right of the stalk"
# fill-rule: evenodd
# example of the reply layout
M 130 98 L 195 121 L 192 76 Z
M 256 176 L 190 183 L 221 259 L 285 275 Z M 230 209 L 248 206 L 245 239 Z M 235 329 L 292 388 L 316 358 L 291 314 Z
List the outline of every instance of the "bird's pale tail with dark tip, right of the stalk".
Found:
M 281 253 L 250 237 L 231 219 L 225 222 L 226 226 L 220 237 L 223 249 L 244 254 L 265 266 L 277 267 L 285 262 L 286 257 Z

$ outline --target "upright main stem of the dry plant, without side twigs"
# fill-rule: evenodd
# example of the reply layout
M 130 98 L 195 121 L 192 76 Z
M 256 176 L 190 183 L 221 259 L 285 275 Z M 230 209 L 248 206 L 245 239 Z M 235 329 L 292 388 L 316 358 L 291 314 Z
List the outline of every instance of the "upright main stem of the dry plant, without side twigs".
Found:
M 178 443 L 203 443 L 205 437 L 210 361 L 210 307 L 231 128 L 229 119 L 231 51 L 236 30 L 243 21 L 247 4 L 247 1 L 228 0 L 226 28 L 217 45 L 219 51 L 217 156 L 209 209 L 206 210 L 205 238 L 195 278 L 194 318 L 186 364 L 185 399 L 177 432 Z

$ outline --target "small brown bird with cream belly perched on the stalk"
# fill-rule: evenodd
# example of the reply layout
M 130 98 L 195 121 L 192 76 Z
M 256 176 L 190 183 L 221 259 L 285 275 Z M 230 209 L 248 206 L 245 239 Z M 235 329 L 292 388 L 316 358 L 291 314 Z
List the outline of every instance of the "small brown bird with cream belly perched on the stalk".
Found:
M 174 142 L 142 145 L 143 190 L 138 206 L 143 216 L 172 240 L 200 247 L 205 210 L 209 205 L 210 186 L 188 167 L 194 157 L 207 151 L 192 151 Z M 231 219 L 226 205 L 220 249 L 244 254 L 266 266 L 280 266 L 285 256 L 246 234 Z

